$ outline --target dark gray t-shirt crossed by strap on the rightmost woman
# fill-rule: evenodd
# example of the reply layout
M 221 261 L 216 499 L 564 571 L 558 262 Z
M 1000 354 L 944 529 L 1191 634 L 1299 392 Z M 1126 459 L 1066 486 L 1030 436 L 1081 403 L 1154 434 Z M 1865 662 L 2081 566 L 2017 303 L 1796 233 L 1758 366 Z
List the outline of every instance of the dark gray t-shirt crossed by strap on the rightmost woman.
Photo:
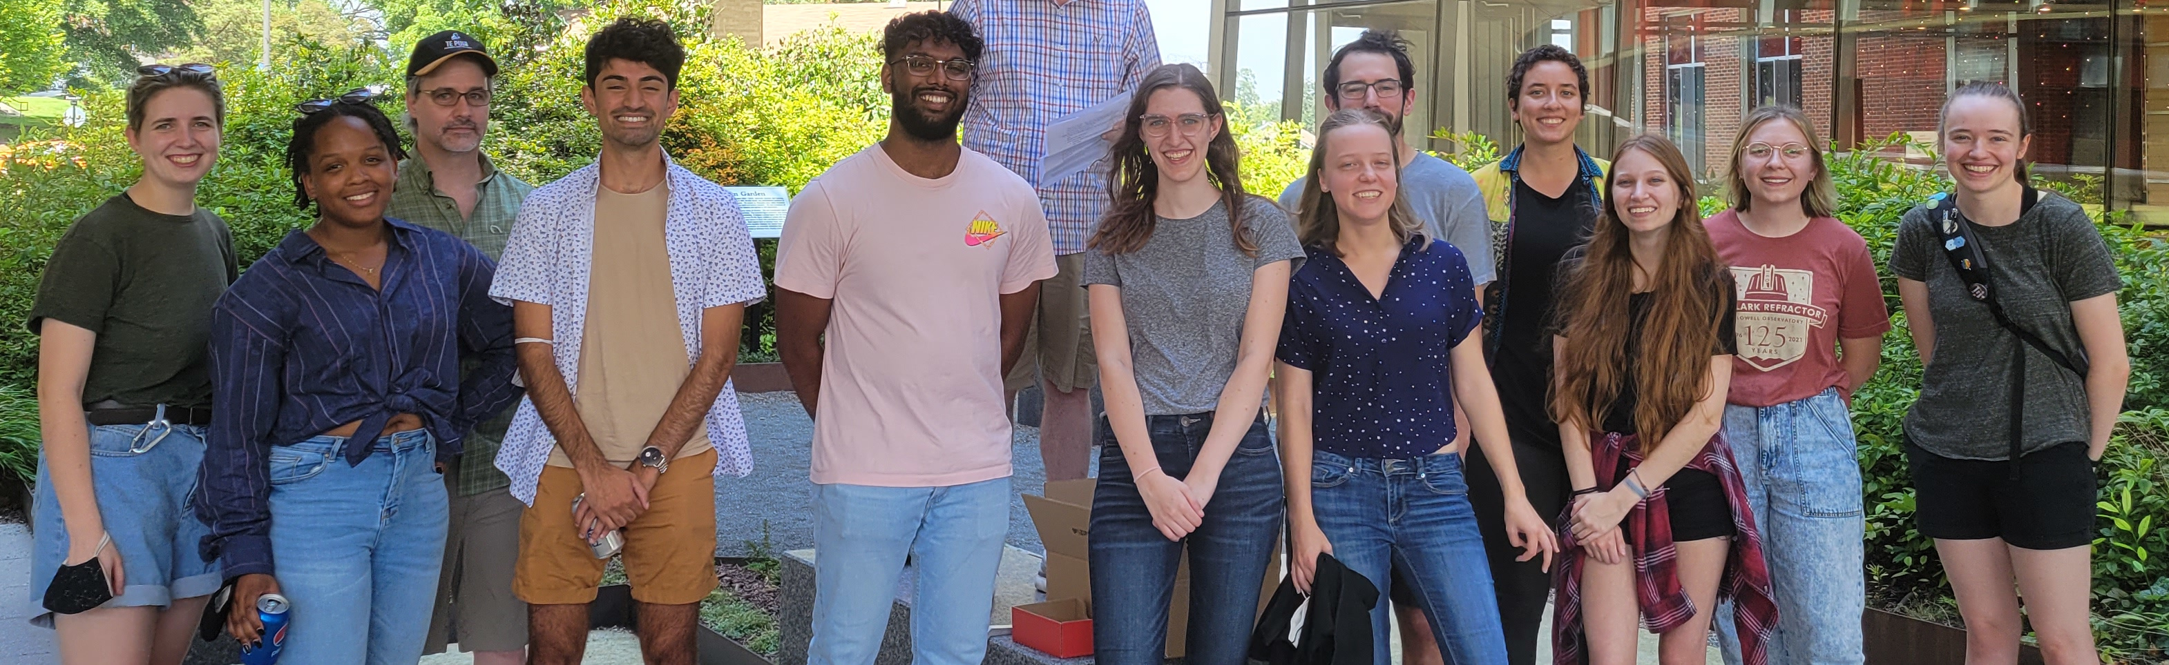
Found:
M 2026 357 L 2024 453 L 2091 438 L 2087 383 L 2015 334 L 1995 325 L 1985 303 L 1965 292 L 1950 269 L 1928 206 L 1898 223 L 1891 273 L 1928 284 L 1935 321 L 1935 364 L 1926 368 L 1920 401 L 1904 416 L 1907 438 L 1928 453 L 1954 459 L 2011 459 L 2011 355 Z M 2087 368 L 2087 351 L 2071 325 L 2071 303 L 2117 292 L 2123 279 L 2108 243 L 2071 199 L 2041 193 L 2017 223 L 1972 227 L 1989 262 L 1995 301 L 2052 349 Z

